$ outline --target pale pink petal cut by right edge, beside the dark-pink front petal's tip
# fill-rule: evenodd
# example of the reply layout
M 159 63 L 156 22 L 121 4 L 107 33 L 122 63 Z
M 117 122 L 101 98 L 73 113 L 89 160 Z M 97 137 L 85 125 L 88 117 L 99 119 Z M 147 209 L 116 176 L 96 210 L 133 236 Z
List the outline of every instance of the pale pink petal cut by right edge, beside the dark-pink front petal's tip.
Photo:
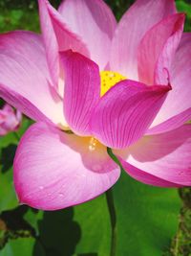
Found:
M 172 91 L 168 94 L 159 114 L 152 124 L 150 133 L 163 132 L 180 127 L 191 119 L 191 34 L 184 34 L 175 55 L 170 80 Z

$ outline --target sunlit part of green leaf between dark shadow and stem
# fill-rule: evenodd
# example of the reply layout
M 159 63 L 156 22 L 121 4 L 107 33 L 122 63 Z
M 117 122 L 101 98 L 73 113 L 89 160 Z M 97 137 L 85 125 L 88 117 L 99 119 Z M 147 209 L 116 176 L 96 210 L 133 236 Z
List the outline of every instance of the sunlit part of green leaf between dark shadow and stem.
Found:
M 81 228 L 76 254 L 109 255 L 111 226 L 105 195 L 75 206 L 74 221 L 77 221 Z

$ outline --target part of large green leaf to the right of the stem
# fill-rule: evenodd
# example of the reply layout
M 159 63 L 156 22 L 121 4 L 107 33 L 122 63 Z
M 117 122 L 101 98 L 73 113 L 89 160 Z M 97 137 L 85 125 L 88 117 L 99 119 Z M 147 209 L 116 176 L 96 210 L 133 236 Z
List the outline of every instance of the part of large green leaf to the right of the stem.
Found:
M 114 198 L 117 255 L 161 256 L 178 229 L 177 190 L 147 186 L 122 172 Z

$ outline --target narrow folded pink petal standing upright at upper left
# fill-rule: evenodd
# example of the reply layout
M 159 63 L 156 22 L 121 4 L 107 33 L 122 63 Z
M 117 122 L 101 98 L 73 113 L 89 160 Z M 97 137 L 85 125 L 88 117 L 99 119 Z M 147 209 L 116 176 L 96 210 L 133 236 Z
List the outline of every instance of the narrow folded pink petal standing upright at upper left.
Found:
M 67 28 L 61 14 L 53 9 L 48 0 L 38 0 L 38 5 L 49 69 L 53 85 L 57 87 L 60 76 L 58 52 L 72 49 L 85 56 L 89 56 L 89 52 L 81 38 Z

